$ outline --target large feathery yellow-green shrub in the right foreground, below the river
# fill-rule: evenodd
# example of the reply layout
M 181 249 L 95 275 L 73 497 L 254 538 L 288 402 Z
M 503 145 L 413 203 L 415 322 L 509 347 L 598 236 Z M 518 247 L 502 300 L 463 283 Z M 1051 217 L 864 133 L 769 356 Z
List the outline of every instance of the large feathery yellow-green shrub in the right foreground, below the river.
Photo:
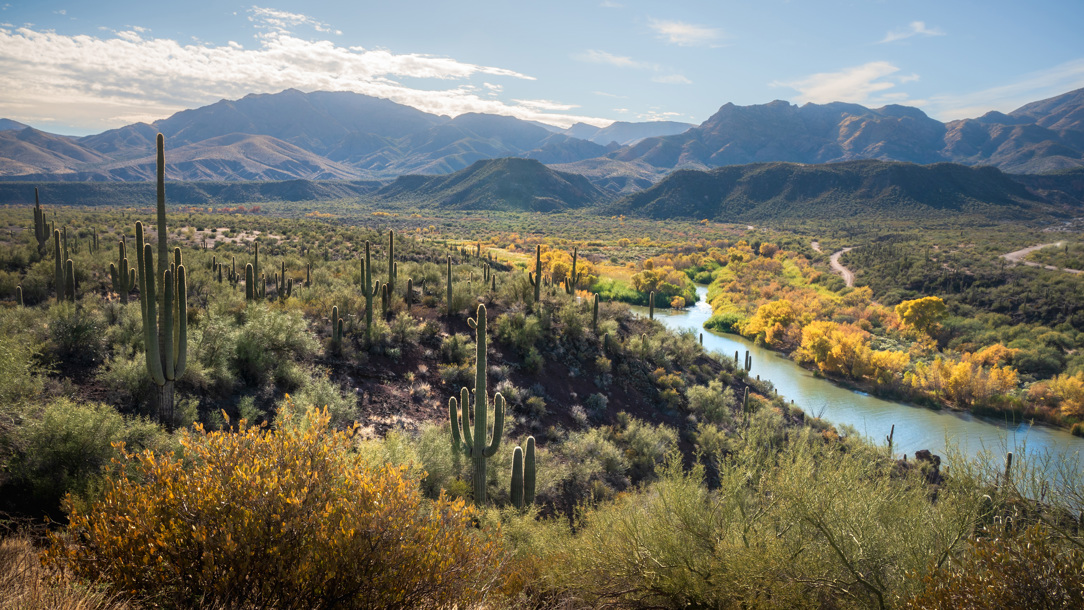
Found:
M 797 438 L 796 438 L 797 437 Z M 915 471 L 889 477 L 872 452 L 791 432 L 705 469 L 671 453 L 659 480 L 584 516 L 544 582 L 610 608 L 877 608 L 906 598 L 963 546 L 979 494 L 945 484 L 930 502 Z

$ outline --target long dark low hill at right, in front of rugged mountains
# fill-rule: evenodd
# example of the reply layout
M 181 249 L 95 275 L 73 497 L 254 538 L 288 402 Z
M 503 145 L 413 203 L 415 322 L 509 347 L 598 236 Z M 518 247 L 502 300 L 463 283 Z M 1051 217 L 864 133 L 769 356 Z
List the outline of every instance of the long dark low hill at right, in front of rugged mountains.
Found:
M 1061 211 L 994 168 L 876 160 L 683 170 L 605 210 L 723 222 L 953 215 L 1025 219 Z

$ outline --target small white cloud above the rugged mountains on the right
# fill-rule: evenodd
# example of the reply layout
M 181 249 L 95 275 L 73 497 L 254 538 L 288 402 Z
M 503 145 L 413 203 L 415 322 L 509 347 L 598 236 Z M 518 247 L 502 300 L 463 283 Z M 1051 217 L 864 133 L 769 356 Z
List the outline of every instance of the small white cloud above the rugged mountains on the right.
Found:
M 888 93 L 900 82 L 915 80 L 915 75 L 890 78 L 900 68 L 888 62 L 869 62 L 840 72 L 810 75 L 791 82 L 773 82 L 774 87 L 789 87 L 799 92 L 799 102 L 827 104 L 829 102 L 851 102 L 876 105 L 900 103 L 906 100 L 901 92 Z

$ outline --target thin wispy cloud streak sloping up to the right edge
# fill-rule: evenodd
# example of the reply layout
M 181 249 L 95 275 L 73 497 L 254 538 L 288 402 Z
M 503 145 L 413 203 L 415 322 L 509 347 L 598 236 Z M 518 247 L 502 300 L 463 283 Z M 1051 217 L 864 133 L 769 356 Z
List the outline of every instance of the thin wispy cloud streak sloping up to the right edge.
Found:
M 960 94 L 930 98 L 927 107 L 934 118 L 975 118 L 990 111 L 1012 112 L 1020 106 L 1084 87 L 1084 57 L 1051 68 L 1021 75 L 997 87 Z

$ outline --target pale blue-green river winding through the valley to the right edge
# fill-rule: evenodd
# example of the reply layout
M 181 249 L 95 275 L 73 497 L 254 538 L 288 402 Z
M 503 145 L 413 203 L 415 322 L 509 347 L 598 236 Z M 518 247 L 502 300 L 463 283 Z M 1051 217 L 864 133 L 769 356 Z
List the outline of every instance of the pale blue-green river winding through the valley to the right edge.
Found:
M 771 380 L 780 395 L 792 400 L 808 415 L 853 426 L 880 444 L 895 426 L 893 450 L 896 454 L 914 455 L 918 450 L 928 449 L 943 455 L 945 447 L 952 444 L 968 456 L 978 456 L 985 450 L 1001 459 L 1006 451 L 1019 454 L 1025 447 L 1032 456 L 1044 452 L 1064 455 L 1075 463 L 1079 472 L 1084 473 L 1084 459 L 1080 455 L 1084 439 L 1049 426 L 1011 424 L 949 410 L 933 411 L 843 388 L 744 337 L 706 330 L 704 323 L 711 317 L 708 289 L 699 286 L 697 294 L 700 300 L 694 307 L 683 311 L 656 309 L 655 320 L 674 330 L 704 333 L 704 347 L 708 351 L 734 358 L 737 350 L 739 362 L 744 362 L 745 352 L 749 350 L 752 356 L 749 375 Z M 642 315 L 647 314 L 647 308 L 633 309 Z

